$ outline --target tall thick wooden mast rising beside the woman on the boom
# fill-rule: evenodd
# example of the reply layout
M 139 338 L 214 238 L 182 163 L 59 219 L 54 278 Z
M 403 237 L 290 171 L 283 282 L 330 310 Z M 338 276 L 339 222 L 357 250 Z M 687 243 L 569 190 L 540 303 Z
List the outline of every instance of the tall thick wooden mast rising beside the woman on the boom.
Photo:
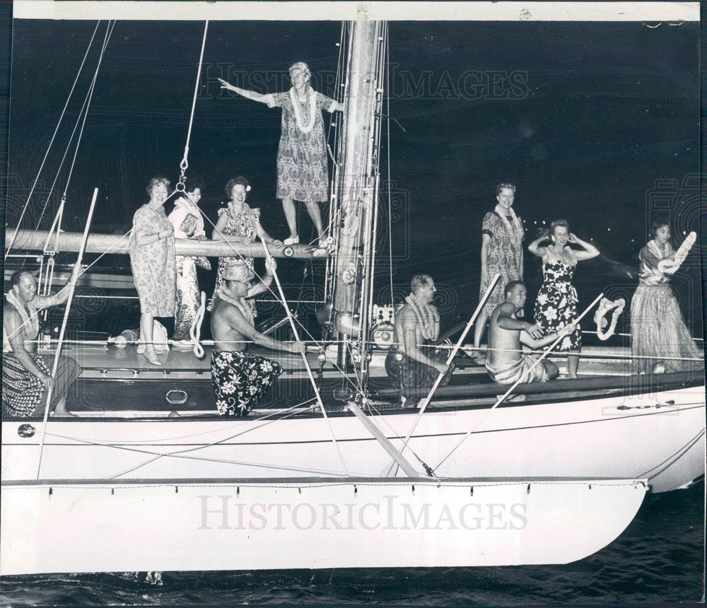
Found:
M 351 22 L 349 77 L 345 99 L 344 158 L 339 172 L 341 221 L 336 226 L 334 328 L 339 365 L 349 361 L 354 343 L 365 373 L 363 345 L 368 337 L 373 293 L 373 221 L 378 212 L 378 142 L 382 103 L 385 22 L 362 13 Z

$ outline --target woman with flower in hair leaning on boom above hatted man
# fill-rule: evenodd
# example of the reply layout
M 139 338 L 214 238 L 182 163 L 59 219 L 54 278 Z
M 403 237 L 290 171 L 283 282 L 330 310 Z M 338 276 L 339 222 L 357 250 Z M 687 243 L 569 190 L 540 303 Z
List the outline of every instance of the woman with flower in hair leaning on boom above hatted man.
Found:
M 224 240 L 232 245 L 242 245 L 254 242 L 255 238 L 258 237 L 273 247 L 282 247 L 282 241 L 272 238 L 260 225 L 260 209 L 252 209 L 245 202 L 248 192 L 250 192 L 250 184 L 245 177 L 239 175 L 228 181 L 226 194 L 230 197 L 230 201 L 228 201 L 226 207 L 221 207 L 218 210 L 218 221 L 211 238 L 213 240 Z M 253 270 L 252 257 L 219 257 L 214 293 L 223 287 L 224 269 L 236 259 L 243 259 L 243 262 Z M 248 300 L 248 303 L 253 315 L 257 316 L 255 302 Z

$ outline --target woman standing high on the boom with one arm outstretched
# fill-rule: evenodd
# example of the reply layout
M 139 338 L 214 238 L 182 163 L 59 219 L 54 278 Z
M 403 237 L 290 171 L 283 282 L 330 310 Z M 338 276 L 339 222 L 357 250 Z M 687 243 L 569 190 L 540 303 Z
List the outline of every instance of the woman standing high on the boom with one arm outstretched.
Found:
M 219 78 L 221 88 L 238 95 L 282 108 L 282 131 L 277 151 L 277 194 L 282 200 L 290 235 L 285 245 L 300 242 L 294 201 L 303 201 L 317 229 L 319 245 L 325 245 L 320 202 L 329 198 L 327 141 L 324 136 L 322 110 L 335 112 L 344 106 L 310 86 L 312 75 L 307 64 L 290 66 L 292 88 L 287 93 L 262 95 L 253 90 L 233 86 Z

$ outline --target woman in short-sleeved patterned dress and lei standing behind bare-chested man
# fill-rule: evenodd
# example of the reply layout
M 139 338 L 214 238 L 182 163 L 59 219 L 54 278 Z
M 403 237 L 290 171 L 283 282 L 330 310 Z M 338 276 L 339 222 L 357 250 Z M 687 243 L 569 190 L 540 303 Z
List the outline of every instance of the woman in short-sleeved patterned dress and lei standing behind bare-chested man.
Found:
M 481 223 L 481 286 L 479 298 L 484 296 L 496 274 L 500 278 L 486 300 L 484 308 L 479 312 L 474 326 L 474 352 L 477 360 L 481 359 L 479 349 L 484 336 L 486 324 L 491 313 L 503 303 L 503 291 L 510 281 L 523 279 L 522 240 L 525 236 L 522 221 L 513 211 L 515 186 L 513 184 L 498 184 L 496 186 L 496 207 L 484 216 Z

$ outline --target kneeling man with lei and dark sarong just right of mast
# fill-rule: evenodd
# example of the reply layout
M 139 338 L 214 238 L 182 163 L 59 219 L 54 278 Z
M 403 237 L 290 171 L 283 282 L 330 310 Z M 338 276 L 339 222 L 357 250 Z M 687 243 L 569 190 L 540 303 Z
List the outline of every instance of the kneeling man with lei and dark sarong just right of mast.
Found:
M 396 387 L 400 387 L 402 406 L 417 407 L 414 390 L 431 388 L 440 373 L 443 384 L 449 382 L 452 368 L 446 355 L 426 348 L 439 338 L 440 315 L 432 304 L 435 283 L 427 274 L 416 274 L 410 284 L 411 293 L 395 315 L 393 346 L 385 357 L 385 371 Z

